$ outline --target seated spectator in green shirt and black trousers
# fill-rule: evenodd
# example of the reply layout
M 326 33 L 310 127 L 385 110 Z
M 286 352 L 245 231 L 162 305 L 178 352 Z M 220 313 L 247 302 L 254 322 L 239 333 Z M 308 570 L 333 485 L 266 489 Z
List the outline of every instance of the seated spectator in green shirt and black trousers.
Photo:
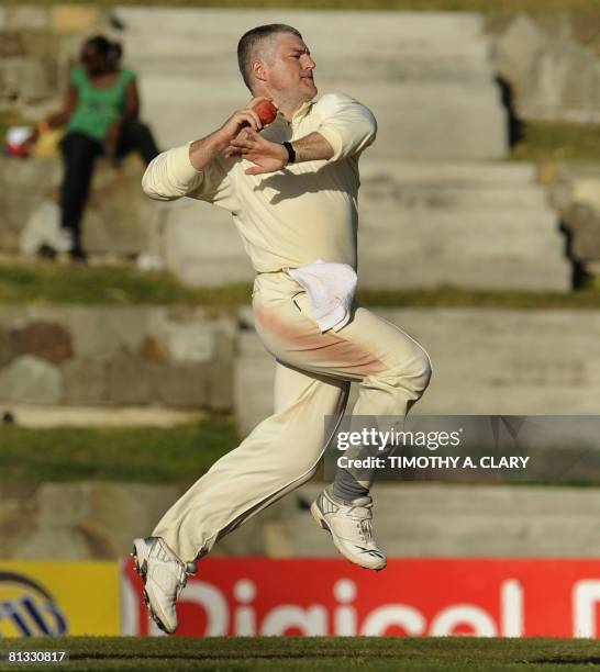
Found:
M 74 68 L 65 108 L 37 125 L 40 132 L 65 126 L 60 141 L 64 179 L 60 189 L 62 251 L 85 261 L 81 219 L 98 156 L 115 164 L 137 150 L 145 164 L 158 154 L 153 135 L 138 121 L 140 96 L 133 70 L 122 68 L 121 45 L 102 35 L 88 40 L 81 49 L 81 64 Z

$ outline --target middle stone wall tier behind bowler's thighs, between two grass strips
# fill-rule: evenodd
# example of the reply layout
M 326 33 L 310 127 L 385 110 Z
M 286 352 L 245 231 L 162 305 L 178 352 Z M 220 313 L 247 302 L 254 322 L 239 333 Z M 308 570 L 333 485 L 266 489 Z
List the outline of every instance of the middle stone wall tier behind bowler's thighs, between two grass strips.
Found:
M 419 413 L 600 412 L 597 311 L 375 312 L 431 355 Z M 235 410 L 249 432 L 271 412 L 273 376 L 248 309 L 0 307 L 3 405 Z

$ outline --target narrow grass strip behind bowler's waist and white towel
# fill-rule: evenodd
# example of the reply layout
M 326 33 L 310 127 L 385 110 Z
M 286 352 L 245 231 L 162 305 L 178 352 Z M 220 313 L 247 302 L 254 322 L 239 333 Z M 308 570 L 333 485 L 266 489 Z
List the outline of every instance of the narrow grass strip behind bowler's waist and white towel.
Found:
M 40 262 L 0 265 L 0 304 L 34 305 L 204 305 L 235 309 L 251 302 L 249 283 L 218 288 L 187 288 L 170 273 L 132 267 L 79 267 Z M 600 285 L 558 292 L 486 291 L 443 287 L 434 290 L 362 290 L 358 300 L 381 307 L 600 307 Z

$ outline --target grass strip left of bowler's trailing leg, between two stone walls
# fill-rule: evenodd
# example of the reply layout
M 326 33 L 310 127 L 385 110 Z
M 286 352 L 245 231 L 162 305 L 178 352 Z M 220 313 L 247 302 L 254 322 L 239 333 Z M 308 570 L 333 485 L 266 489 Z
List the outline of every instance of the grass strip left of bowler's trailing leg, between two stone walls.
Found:
M 196 481 L 238 443 L 230 417 L 169 428 L 0 428 L 0 481 Z

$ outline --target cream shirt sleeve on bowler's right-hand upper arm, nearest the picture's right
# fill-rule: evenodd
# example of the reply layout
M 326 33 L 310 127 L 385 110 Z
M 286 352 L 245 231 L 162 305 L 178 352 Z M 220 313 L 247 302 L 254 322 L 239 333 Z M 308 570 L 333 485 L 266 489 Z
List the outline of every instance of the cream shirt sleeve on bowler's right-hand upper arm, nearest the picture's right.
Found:
M 327 93 L 315 104 L 321 117 L 316 128 L 333 147 L 330 161 L 360 154 L 377 135 L 373 112 L 351 96 Z

